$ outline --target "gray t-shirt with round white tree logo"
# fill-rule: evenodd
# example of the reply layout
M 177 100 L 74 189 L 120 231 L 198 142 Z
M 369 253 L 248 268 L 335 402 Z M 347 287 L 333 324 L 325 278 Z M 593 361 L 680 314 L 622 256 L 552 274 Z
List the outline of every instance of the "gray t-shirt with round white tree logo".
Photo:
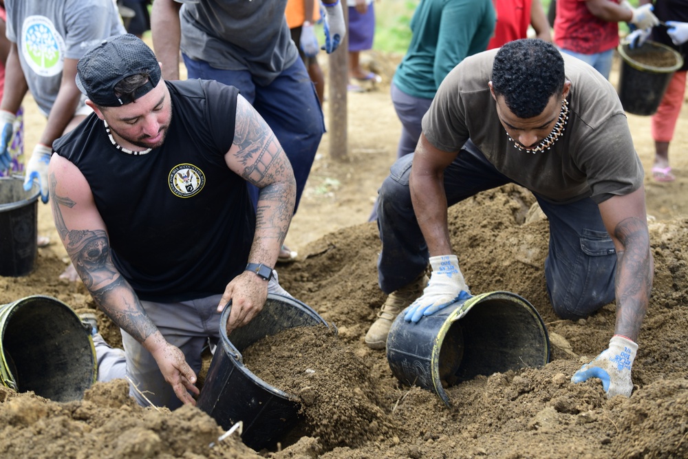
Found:
M 79 59 L 101 40 L 126 32 L 112 0 L 5 0 L 5 8 L 6 36 L 17 43 L 24 78 L 45 116 L 57 98 L 65 58 Z

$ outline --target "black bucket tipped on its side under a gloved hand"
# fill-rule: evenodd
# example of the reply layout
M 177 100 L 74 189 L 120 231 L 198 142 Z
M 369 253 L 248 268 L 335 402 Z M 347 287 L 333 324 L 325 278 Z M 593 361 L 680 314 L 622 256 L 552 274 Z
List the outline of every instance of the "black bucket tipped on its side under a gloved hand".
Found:
M 429 389 L 451 406 L 444 386 L 550 359 L 540 314 L 511 292 L 488 292 L 457 301 L 418 323 L 399 314 L 387 337 L 387 361 L 407 385 Z

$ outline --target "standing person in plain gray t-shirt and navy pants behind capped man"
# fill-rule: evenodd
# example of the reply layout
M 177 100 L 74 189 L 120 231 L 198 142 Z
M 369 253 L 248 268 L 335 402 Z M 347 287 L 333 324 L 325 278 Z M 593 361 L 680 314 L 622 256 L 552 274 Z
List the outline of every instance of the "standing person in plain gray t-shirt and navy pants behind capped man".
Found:
M 275 132 L 297 179 L 297 202 L 325 132 L 318 96 L 285 17 L 287 0 L 155 0 L 153 49 L 164 77 L 179 78 L 180 48 L 188 78 L 233 85 Z M 340 0 L 321 0 L 325 50 L 345 39 Z M 250 188 L 257 202 L 257 189 Z M 293 261 L 286 247 L 279 261 Z

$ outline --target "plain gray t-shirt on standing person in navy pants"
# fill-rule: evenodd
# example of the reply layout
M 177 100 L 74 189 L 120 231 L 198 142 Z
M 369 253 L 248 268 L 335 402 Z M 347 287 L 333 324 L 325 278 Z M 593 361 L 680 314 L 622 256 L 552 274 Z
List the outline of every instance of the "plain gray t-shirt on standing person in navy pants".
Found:
M 299 58 L 287 0 L 176 0 L 182 52 L 221 70 L 248 70 L 266 86 Z

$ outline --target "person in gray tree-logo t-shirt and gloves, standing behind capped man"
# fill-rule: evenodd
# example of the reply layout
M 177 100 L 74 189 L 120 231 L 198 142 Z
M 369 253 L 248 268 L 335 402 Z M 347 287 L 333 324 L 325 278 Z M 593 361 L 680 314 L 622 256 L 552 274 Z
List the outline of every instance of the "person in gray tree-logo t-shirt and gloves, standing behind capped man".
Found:
M 29 191 L 37 182 L 41 200 L 47 203 L 52 142 L 91 112 L 74 84 L 76 63 L 89 47 L 125 33 L 125 28 L 112 0 L 5 0 L 5 6 L 12 45 L 0 102 L 0 131 L 10 132 L 14 114 L 31 92 L 47 123 L 26 166 L 24 189 Z M 8 156 L 6 138 L 3 135 L 0 142 L 0 157 Z M 70 265 L 60 277 L 76 280 L 74 267 Z

